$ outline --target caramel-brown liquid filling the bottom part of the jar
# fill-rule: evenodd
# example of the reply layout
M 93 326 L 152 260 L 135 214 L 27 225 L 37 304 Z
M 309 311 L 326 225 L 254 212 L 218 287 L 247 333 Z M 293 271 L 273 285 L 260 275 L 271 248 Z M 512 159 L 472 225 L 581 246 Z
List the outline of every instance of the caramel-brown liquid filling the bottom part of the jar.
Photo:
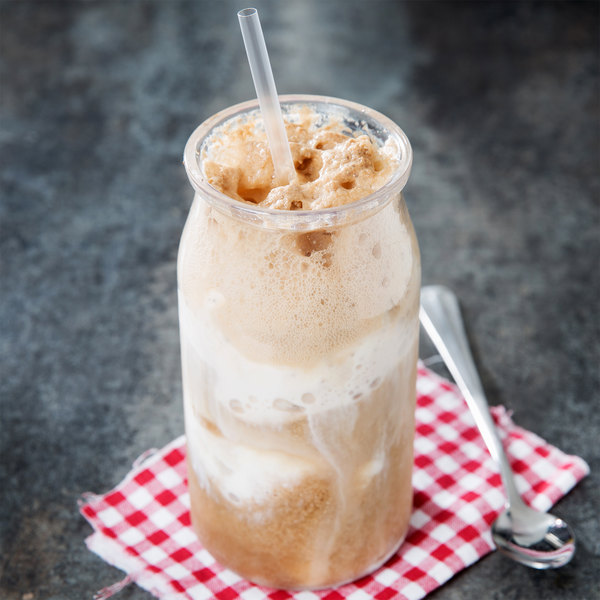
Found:
M 232 498 L 218 478 L 201 484 L 190 460 L 192 523 L 219 562 L 250 581 L 294 589 L 338 585 L 390 556 L 412 507 L 415 350 L 351 406 L 281 428 L 238 423 L 237 441 L 227 443 L 285 448 L 305 467 L 259 499 Z M 208 438 L 223 436 L 212 422 L 198 426 Z

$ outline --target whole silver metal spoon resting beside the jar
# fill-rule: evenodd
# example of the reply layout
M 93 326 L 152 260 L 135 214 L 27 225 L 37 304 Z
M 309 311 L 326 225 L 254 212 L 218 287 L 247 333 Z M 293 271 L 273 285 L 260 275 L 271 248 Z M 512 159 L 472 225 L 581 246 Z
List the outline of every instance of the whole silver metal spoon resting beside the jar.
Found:
M 562 567 L 575 553 L 575 536 L 562 519 L 533 510 L 521 500 L 469 350 L 456 296 L 443 286 L 422 288 L 419 316 L 465 397 L 492 458 L 500 467 L 508 501 L 492 525 L 492 537 L 498 550 L 535 569 Z

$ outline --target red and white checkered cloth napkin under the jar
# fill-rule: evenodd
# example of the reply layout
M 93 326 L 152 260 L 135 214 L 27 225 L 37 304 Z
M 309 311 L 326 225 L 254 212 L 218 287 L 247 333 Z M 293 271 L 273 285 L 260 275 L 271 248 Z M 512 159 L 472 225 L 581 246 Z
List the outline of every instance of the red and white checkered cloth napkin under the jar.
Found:
M 191 525 L 185 439 L 143 455 L 111 492 L 85 494 L 83 516 L 94 528 L 90 550 L 127 573 L 101 590 L 108 598 L 135 581 L 164 600 L 417 600 L 494 549 L 490 525 L 502 510 L 498 469 L 456 388 L 424 367 L 417 381 L 414 510 L 401 549 L 370 576 L 319 592 L 272 590 L 224 569 L 200 545 Z M 547 510 L 589 472 L 492 409 L 517 487 Z

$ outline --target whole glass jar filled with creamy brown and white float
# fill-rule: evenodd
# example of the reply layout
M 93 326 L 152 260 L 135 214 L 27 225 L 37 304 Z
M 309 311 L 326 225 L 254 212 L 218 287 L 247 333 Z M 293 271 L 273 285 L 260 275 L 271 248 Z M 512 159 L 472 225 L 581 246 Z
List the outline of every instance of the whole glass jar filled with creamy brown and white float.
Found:
M 201 125 L 178 293 L 193 527 L 258 584 L 336 586 L 411 512 L 420 262 L 389 119 L 282 97 L 296 177 L 275 185 L 256 103 Z

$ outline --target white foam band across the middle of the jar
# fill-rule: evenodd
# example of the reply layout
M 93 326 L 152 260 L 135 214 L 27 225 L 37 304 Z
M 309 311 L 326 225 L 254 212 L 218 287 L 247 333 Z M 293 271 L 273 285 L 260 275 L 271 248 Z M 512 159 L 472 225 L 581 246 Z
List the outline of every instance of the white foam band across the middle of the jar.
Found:
M 369 332 L 360 344 L 343 347 L 312 366 L 298 367 L 249 359 L 227 341 L 210 317 L 194 315 L 182 297 L 179 314 L 182 337 L 194 360 L 210 372 L 231 374 L 214 379 L 214 396 L 227 410 L 254 423 L 289 421 L 298 413 L 310 415 L 368 396 L 396 369 L 398 349 L 410 345 L 414 335 L 404 320 L 387 315 L 381 330 Z

